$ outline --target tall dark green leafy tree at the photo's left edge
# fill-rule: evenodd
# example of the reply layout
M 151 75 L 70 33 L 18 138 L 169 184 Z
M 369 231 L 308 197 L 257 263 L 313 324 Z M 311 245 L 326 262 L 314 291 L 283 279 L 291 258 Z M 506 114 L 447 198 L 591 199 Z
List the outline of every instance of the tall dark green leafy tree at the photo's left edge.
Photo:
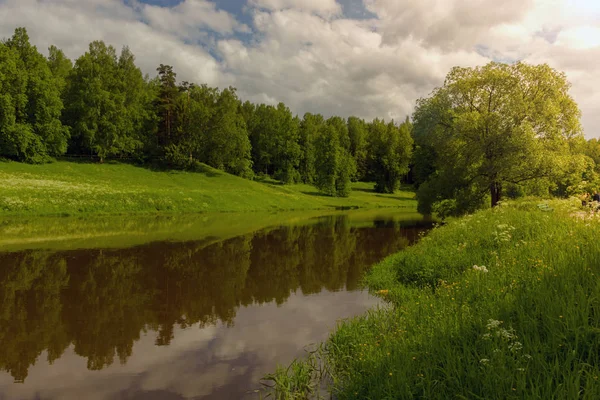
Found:
M 43 162 L 64 154 L 60 84 L 25 28 L 0 43 L 0 155 Z

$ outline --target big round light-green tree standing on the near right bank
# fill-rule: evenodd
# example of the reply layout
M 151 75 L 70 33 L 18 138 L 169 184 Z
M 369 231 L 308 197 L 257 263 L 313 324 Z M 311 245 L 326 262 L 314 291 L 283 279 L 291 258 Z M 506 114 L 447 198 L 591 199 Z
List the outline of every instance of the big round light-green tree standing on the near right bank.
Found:
M 435 152 L 434 170 L 420 186 L 419 209 L 446 201 L 448 213 L 491 205 L 503 186 L 552 173 L 581 135 L 580 111 L 563 73 L 548 65 L 492 62 L 456 67 L 431 97 L 417 101 L 417 145 Z

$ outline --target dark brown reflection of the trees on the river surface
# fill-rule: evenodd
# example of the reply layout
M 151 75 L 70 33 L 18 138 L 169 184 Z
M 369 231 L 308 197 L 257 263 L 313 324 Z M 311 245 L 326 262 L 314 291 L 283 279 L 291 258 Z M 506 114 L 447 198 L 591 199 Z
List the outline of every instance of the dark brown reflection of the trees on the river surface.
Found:
M 52 363 L 70 345 L 99 370 L 126 363 L 144 332 L 167 346 L 176 326 L 233 326 L 242 306 L 356 290 L 367 268 L 423 229 L 334 216 L 216 244 L 2 253 L 0 370 L 22 382 L 43 351 Z

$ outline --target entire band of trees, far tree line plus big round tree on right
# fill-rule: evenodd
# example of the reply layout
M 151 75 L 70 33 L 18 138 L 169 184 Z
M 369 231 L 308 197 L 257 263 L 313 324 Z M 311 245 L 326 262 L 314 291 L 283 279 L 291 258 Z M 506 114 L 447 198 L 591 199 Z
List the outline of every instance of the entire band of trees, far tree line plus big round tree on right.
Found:
M 419 211 L 451 216 L 505 198 L 569 197 L 600 187 L 600 143 L 586 141 L 564 73 L 548 65 L 456 67 L 401 123 L 294 115 L 236 89 L 178 82 L 161 64 L 94 41 L 74 62 L 48 56 L 25 28 L 0 43 L 0 158 L 84 158 L 166 169 L 203 165 L 254 180 L 308 183 L 348 196 L 414 184 Z

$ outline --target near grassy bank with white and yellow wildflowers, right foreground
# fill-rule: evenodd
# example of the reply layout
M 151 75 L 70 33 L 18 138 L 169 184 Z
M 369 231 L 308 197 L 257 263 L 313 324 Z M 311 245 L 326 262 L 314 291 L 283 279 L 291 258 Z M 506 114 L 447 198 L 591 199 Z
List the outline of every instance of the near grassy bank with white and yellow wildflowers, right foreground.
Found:
M 339 399 L 598 399 L 599 277 L 600 217 L 576 202 L 451 221 L 374 267 L 389 307 L 280 369 L 278 397 L 303 398 L 321 363 Z

